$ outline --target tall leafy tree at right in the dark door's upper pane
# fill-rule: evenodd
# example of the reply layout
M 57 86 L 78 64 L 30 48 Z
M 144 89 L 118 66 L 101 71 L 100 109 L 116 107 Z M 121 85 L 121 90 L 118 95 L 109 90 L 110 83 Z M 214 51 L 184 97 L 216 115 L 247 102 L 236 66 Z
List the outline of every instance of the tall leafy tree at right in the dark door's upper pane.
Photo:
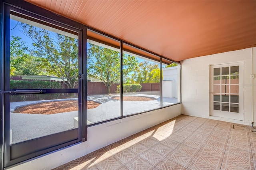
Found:
M 66 79 L 68 87 L 74 88 L 78 84 L 78 40 L 28 24 L 21 28 L 34 41 L 33 52 L 44 59 L 46 71 Z

